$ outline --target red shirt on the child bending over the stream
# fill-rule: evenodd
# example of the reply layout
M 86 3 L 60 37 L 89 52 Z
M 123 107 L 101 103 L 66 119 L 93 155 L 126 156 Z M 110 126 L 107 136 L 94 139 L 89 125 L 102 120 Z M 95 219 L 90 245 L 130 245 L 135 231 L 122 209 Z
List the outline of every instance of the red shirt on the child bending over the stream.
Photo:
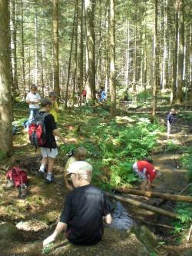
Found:
M 154 180 L 156 176 L 156 170 L 154 165 L 151 165 L 148 161 L 137 161 L 137 168 L 138 171 L 144 172 L 144 175 L 149 179 L 151 182 Z

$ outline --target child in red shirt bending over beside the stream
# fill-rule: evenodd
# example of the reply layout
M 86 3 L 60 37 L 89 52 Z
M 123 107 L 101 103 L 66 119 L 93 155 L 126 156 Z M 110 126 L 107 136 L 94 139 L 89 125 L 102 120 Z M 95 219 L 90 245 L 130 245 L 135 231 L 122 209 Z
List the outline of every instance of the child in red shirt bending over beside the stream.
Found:
M 160 174 L 149 161 L 137 161 L 133 165 L 133 170 L 142 179 L 141 191 L 150 190 L 154 178 Z

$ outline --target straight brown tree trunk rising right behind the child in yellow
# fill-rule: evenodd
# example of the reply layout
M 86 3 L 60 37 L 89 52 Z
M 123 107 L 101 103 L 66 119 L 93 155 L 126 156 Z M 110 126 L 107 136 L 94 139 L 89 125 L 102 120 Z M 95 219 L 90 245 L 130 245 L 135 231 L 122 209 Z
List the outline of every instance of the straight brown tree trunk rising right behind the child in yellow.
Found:
M 60 97 L 59 88 L 59 62 L 58 62 L 58 0 L 53 1 L 53 68 L 54 91 Z

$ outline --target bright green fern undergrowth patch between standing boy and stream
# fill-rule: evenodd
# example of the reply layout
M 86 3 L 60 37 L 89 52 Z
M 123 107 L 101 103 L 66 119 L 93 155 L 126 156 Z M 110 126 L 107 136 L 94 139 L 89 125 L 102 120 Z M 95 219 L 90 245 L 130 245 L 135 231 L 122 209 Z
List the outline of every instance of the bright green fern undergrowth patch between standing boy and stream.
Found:
M 132 165 L 150 154 L 160 128 L 158 123 L 151 124 L 148 118 L 137 118 L 134 126 L 122 125 L 84 112 L 80 134 L 85 138 L 82 145 L 89 151 L 88 161 L 94 166 L 94 184 L 109 190 L 111 186 L 137 181 Z M 61 151 L 67 154 L 74 147 L 61 146 Z

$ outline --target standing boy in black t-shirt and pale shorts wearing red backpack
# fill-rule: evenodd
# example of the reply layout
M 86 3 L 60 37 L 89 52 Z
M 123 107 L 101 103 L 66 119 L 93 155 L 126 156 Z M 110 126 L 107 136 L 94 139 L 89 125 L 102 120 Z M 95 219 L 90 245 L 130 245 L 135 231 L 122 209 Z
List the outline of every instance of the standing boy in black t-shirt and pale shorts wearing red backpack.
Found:
M 54 180 L 52 172 L 55 158 L 58 155 L 55 136 L 61 138 L 61 141 L 64 143 L 66 142 L 65 138 L 57 129 L 53 115 L 49 113 L 51 111 L 51 105 L 52 102 L 50 99 L 43 98 L 41 100 L 41 110 L 28 129 L 31 144 L 41 149 L 42 161 L 38 175 L 44 176 L 45 169 L 47 169 L 45 180 L 47 183 L 51 183 Z

